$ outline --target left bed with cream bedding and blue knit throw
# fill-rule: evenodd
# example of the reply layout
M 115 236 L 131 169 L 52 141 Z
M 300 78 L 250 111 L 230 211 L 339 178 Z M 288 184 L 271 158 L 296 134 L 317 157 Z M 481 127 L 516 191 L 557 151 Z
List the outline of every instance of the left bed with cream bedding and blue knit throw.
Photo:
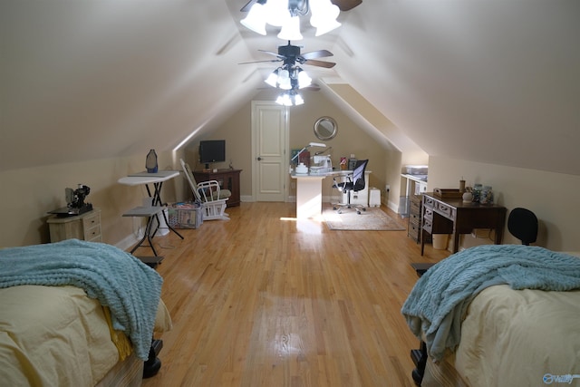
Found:
M 0 250 L 5 385 L 137 386 L 154 332 L 171 328 L 162 279 L 102 243 Z

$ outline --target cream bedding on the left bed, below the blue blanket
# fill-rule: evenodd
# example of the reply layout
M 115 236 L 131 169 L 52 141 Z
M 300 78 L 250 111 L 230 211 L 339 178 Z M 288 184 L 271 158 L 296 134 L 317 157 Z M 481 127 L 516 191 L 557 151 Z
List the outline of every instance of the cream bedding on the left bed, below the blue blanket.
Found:
M 120 361 L 102 305 L 78 287 L 0 289 L 0 311 L 0 380 L 5 385 L 93 386 Z M 170 328 L 169 313 L 160 303 L 155 330 Z

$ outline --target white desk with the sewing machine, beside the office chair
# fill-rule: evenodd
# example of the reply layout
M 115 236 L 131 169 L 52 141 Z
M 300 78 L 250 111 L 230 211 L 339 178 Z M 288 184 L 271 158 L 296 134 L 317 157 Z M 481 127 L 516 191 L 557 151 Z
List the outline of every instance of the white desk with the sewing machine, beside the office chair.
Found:
M 368 184 L 371 171 L 365 170 L 364 183 L 367 198 L 362 204 L 369 205 Z M 352 175 L 352 170 L 333 170 L 321 174 L 296 174 L 292 172 L 290 177 L 296 179 L 296 218 L 314 218 L 320 216 L 323 210 L 323 179 L 328 177 L 340 177 Z M 366 203 L 366 204 L 364 204 Z

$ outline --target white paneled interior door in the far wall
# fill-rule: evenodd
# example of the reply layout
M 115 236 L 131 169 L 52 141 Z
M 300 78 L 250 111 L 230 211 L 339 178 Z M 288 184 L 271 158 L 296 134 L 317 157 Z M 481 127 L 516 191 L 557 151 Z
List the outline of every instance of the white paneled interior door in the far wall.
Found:
M 256 201 L 285 201 L 288 114 L 275 102 L 252 102 L 252 153 Z

